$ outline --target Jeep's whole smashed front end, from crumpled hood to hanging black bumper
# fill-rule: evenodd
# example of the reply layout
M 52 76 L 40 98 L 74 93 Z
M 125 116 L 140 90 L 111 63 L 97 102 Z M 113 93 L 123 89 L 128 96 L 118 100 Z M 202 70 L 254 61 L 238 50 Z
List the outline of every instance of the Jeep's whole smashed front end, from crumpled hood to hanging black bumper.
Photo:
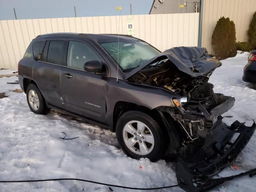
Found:
M 175 149 L 176 178 L 186 191 L 206 191 L 220 184 L 211 177 L 236 158 L 256 129 L 255 122 L 251 127 L 238 121 L 231 126 L 222 122 L 221 115 L 234 106 L 235 98 L 214 93 L 214 85 L 208 82 L 219 66 L 204 48 L 181 47 L 166 50 L 126 76 L 132 83 L 177 95 L 172 98 L 175 107 L 163 106 L 158 111 L 172 117 L 182 134 Z

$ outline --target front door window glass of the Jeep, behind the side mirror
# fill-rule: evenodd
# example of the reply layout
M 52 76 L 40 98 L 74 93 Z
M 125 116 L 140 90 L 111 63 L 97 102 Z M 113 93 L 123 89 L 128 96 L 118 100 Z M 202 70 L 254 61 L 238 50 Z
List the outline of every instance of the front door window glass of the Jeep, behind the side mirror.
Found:
M 89 46 L 77 41 L 70 41 L 68 43 L 67 66 L 84 69 L 84 64 L 93 60 L 100 62 L 98 56 Z

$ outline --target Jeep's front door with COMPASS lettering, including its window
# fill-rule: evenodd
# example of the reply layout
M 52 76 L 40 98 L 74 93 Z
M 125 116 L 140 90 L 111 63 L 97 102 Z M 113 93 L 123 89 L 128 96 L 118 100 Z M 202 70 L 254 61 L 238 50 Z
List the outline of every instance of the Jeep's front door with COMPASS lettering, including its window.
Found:
M 106 76 L 86 72 L 83 68 L 90 60 L 104 62 L 103 58 L 87 41 L 72 38 L 68 39 L 66 58 L 60 74 L 66 110 L 104 123 Z

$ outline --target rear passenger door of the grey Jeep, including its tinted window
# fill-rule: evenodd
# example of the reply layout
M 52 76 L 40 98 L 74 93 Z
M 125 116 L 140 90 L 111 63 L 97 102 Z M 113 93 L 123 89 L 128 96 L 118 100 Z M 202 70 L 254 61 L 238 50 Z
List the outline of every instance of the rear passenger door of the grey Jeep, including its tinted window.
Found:
M 33 77 L 46 103 L 58 108 L 64 108 L 60 92 L 60 70 L 65 46 L 66 38 L 46 39 L 42 56 L 33 70 Z

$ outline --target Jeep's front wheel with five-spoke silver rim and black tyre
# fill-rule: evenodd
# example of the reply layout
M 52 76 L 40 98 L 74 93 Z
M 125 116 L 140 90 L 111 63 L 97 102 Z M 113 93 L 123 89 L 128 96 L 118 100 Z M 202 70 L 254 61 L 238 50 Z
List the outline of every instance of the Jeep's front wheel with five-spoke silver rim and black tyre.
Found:
M 128 111 L 120 116 L 116 138 L 122 150 L 135 159 L 156 162 L 166 150 L 163 130 L 151 116 L 140 111 Z

